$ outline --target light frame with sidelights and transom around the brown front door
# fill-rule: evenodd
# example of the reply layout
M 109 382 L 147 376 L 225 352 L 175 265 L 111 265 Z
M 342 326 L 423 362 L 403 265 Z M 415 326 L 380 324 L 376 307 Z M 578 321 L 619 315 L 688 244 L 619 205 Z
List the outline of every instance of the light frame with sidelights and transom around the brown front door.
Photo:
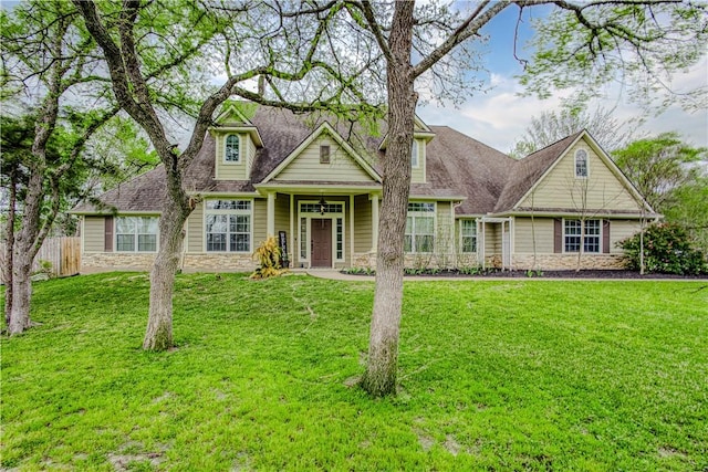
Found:
M 298 201 L 298 220 L 295 227 L 298 228 L 298 262 L 305 268 L 312 268 L 312 220 L 331 220 L 332 221 L 332 268 L 336 263 L 346 261 L 346 201 L 345 200 L 329 200 L 327 204 L 341 204 L 342 211 L 325 212 L 324 214 L 315 211 L 303 211 L 304 204 L 316 204 L 317 200 L 299 200 Z M 336 256 L 336 220 L 342 219 L 342 258 Z M 304 220 L 304 228 L 303 228 Z M 304 239 L 303 239 L 304 229 Z M 303 241 L 305 244 L 303 245 Z M 303 254 L 305 255 L 303 258 Z

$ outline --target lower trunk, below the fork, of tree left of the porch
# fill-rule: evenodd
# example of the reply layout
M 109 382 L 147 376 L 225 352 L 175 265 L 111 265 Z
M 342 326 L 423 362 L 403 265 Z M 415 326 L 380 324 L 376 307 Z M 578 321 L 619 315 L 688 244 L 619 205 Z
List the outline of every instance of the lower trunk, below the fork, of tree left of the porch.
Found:
M 173 347 L 173 293 L 184 243 L 184 225 L 191 212 L 181 179 L 168 171 L 167 196 L 159 218 L 159 248 L 150 272 L 150 302 L 143 349 Z

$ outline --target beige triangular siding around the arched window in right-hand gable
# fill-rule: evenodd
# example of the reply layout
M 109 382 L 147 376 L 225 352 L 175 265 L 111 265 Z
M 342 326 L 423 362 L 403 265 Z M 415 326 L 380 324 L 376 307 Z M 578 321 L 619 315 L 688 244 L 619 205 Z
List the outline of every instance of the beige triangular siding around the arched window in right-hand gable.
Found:
M 587 151 L 587 178 L 575 178 L 575 151 Z M 597 154 L 581 140 L 556 164 L 520 207 L 639 210 L 632 195 Z

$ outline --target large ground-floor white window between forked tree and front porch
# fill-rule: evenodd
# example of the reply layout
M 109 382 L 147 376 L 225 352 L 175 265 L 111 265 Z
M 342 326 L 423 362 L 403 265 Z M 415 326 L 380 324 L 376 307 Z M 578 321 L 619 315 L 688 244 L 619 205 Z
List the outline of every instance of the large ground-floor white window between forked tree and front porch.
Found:
M 251 252 L 251 200 L 206 200 L 207 252 Z

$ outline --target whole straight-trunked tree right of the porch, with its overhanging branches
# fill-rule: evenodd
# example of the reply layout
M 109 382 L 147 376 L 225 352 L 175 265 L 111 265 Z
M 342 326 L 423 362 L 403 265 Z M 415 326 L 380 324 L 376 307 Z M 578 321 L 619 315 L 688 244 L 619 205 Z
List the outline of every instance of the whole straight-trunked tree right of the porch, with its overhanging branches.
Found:
M 363 388 L 374 396 L 396 389 L 398 338 L 403 301 L 404 233 L 410 185 L 410 146 L 418 101 L 415 82 L 426 71 L 451 57 L 456 46 L 480 38 L 480 29 L 504 9 L 520 10 L 554 4 L 544 19 L 537 42 L 537 55 L 527 66 L 523 83 L 531 93 L 548 95 L 553 87 L 585 86 L 596 91 L 616 71 L 643 73 L 650 69 L 647 83 L 656 84 L 656 69 L 668 64 L 695 63 L 705 54 L 706 10 L 702 6 L 675 1 L 590 1 L 565 0 L 480 1 L 468 3 L 464 13 L 438 19 L 416 18 L 413 2 L 389 4 L 351 1 L 354 18 L 375 38 L 386 61 L 388 90 L 388 146 L 383 161 L 382 225 L 378 232 L 376 293 L 372 315 L 369 352 Z M 435 7 L 420 11 L 429 13 Z M 363 17 L 363 19 L 362 19 Z M 427 29 L 428 46 L 415 43 L 416 29 Z M 435 29 L 435 32 L 431 32 Z M 454 51 L 455 50 L 455 51 Z M 415 63 L 414 63 L 415 62 Z M 458 64 L 460 65 L 460 64 Z M 465 64 L 471 65 L 475 64 Z M 583 71 L 583 74 L 579 74 Z M 582 94 L 581 94 L 582 95 Z

